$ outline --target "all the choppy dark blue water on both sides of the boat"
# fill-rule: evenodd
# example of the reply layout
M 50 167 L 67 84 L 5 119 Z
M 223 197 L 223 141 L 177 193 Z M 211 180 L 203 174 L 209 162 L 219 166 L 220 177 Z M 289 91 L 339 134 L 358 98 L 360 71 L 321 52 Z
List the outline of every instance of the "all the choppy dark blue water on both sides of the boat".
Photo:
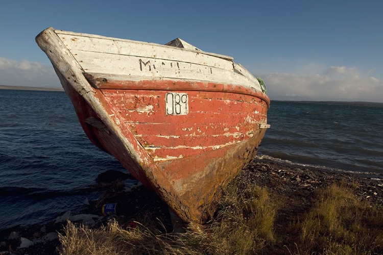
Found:
M 273 101 L 258 157 L 383 174 L 383 108 Z M 85 136 L 64 92 L 0 90 L 0 230 L 52 219 L 96 198 L 123 167 Z

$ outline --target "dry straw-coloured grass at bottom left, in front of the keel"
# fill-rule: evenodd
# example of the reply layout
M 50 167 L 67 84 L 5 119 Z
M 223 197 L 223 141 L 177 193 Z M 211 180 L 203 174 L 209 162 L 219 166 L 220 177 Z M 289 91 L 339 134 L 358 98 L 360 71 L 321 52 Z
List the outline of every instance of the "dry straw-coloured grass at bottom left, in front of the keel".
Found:
M 188 238 L 163 234 L 139 223 L 135 228 L 125 228 L 115 220 L 96 230 L 68 222 L 65 235 L 59 235 L 59 239 L 63 255 L 202 254 L 198 248 L 183 243 Z

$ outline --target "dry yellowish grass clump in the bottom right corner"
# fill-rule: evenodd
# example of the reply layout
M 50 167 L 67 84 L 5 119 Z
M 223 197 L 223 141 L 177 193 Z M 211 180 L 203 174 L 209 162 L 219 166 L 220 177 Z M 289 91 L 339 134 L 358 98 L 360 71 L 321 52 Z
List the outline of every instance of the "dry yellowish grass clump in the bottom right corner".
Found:
M 332 185 L 318 194 L 313 209 L 297 226 L 298 251 L 319 254 L 372 254 L 383 251 L 383 215 L 353 195 L 357 184 Z

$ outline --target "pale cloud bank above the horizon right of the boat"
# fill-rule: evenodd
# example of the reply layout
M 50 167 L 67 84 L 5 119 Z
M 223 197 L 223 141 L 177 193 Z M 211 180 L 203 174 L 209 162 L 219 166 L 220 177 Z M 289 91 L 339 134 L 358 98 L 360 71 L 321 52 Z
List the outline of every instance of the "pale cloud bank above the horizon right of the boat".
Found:
M 383 82 L 357 68 L 331 66 L 323 74 L 267 73 L 271 99 L 383 102 Z

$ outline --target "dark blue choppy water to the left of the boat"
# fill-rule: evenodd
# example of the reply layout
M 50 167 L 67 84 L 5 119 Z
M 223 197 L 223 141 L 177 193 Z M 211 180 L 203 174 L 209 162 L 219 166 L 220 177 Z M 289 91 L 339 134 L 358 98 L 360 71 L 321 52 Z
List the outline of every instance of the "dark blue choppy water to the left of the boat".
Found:
M 88 140 L 64 92 L 0 90 L 0 230 L 81 207 L 108 169 L 124 168 Z

